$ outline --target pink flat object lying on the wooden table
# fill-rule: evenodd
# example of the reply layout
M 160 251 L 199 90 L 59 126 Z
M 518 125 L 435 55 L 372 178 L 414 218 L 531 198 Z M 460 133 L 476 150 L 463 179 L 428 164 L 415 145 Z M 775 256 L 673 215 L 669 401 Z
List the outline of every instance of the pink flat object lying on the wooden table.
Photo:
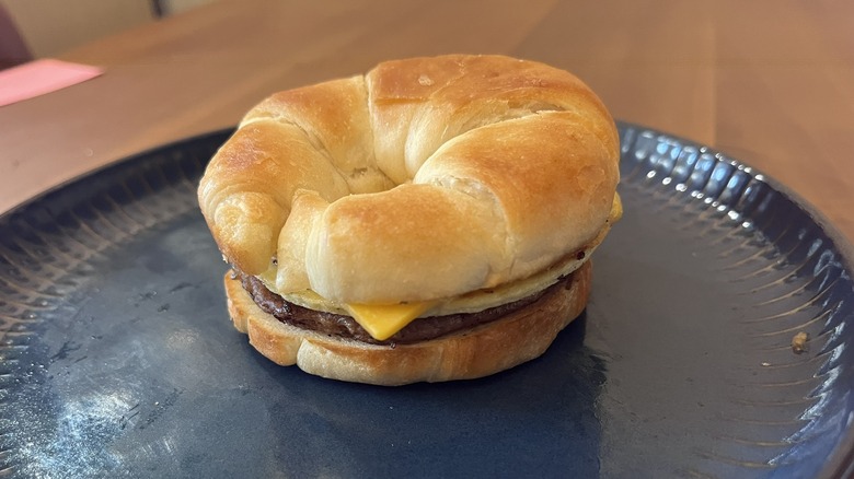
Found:
M 35 60 L 0 71 L 0 106 L 55 92 L 93 79 L 97 67 L 54 59 Z

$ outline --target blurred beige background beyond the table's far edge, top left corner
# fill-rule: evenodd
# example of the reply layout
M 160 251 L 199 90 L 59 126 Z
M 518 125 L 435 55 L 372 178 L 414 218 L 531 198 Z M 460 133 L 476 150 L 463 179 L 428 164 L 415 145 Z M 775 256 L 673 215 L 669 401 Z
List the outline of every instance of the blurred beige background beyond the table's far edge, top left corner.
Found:
M 0 0 L 0 69 L 216 0 Z

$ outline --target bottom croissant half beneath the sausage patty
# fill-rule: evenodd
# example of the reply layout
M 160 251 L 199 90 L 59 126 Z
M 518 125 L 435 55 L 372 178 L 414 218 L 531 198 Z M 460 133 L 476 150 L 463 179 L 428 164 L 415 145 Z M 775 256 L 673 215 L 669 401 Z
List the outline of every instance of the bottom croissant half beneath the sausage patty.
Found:
M 341 381 L 402 385 L 483 377 L 540 357 L 557 334 L 584 311 L 591 283 L 586 262 L 565 288 L 486 325 L 395 348 L 327 337 L 280 323 L 263 312 L 236 279 L 226 274 L 234 327 L 280 365 Z

